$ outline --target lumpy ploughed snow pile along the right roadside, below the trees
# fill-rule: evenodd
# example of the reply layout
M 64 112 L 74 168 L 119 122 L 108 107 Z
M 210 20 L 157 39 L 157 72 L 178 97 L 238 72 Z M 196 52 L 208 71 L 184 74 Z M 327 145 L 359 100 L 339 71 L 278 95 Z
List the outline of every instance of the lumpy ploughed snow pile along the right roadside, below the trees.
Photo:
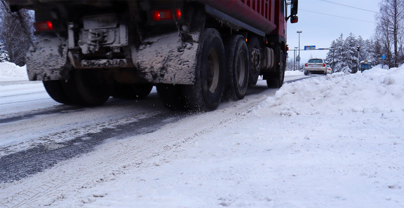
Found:
M 374 68 L 288 83 L 262 104 L 262 111 L 285 116 L 335 112 L 404 111 L 404 68 Z

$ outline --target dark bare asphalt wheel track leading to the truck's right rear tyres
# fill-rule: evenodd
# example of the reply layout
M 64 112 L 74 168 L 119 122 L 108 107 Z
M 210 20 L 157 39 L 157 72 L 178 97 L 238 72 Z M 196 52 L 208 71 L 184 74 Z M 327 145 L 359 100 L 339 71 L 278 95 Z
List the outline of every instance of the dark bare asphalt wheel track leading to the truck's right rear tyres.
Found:
M 25 151 L 5 155 L 0 158 L 0 183 L 9 183 L 42 172 L 62 160 L 93 151 L 107 139 L 122 139 L 154 132 L 165 125 L 168 118 L 178 120 L 180 117 L 171 112 L 161 113 L 113 128 L 105 127 L 100 132 L 84 134 L 69 141 L 40 144 Z

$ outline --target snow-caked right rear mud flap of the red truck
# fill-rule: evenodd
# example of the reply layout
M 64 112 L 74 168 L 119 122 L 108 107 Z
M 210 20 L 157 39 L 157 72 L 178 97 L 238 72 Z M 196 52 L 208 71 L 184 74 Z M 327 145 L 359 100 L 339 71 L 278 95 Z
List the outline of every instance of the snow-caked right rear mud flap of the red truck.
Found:
M 145 39 L 134 60 L 139 75 L 150 83 L 194 84 L 199 34 L 187 42 L 178 32 Z

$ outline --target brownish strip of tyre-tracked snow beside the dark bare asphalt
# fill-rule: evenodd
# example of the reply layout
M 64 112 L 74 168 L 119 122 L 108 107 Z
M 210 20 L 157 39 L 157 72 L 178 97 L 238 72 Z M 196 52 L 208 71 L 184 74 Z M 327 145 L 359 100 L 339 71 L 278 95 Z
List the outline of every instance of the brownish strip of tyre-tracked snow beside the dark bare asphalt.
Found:
M 270 91 L 272 92 L 275 90 Z M 227 102 L 217 111 L 190 115 L 154 132 L 108 142 L 99 146 L 96 151 L 86 153 L 80 158 L 62 161 L 27 179 L 0 183 L 0 187 L 4 187 L 1 188 L 4 194 L 0 197 L 0 207 L 75 207 L 77 204 L 90 202 L 103 193 L 83 196 L 81 189 L 113 180 L 119 174 L 125 174 L 129 168 L 156 165 L 156 155 L 173 151 L 177 146 L 225 123 L 243 119 L 248 111 L 266 98 L 264 95 L 251 95 L 238 102 Z M 166 118 L 170 120 L 171 117 Z M 64 204 L 63 200 L 67 197 L 73 197 L 76 204 Z

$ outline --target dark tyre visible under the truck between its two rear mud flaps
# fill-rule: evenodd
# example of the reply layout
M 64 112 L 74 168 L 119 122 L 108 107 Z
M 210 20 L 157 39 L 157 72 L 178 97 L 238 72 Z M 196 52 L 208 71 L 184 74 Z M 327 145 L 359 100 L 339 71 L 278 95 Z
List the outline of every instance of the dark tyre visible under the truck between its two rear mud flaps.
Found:
M 152 92 L 152 84 L 114 83 L 112 97 L 122 99 L 143 99 Z

